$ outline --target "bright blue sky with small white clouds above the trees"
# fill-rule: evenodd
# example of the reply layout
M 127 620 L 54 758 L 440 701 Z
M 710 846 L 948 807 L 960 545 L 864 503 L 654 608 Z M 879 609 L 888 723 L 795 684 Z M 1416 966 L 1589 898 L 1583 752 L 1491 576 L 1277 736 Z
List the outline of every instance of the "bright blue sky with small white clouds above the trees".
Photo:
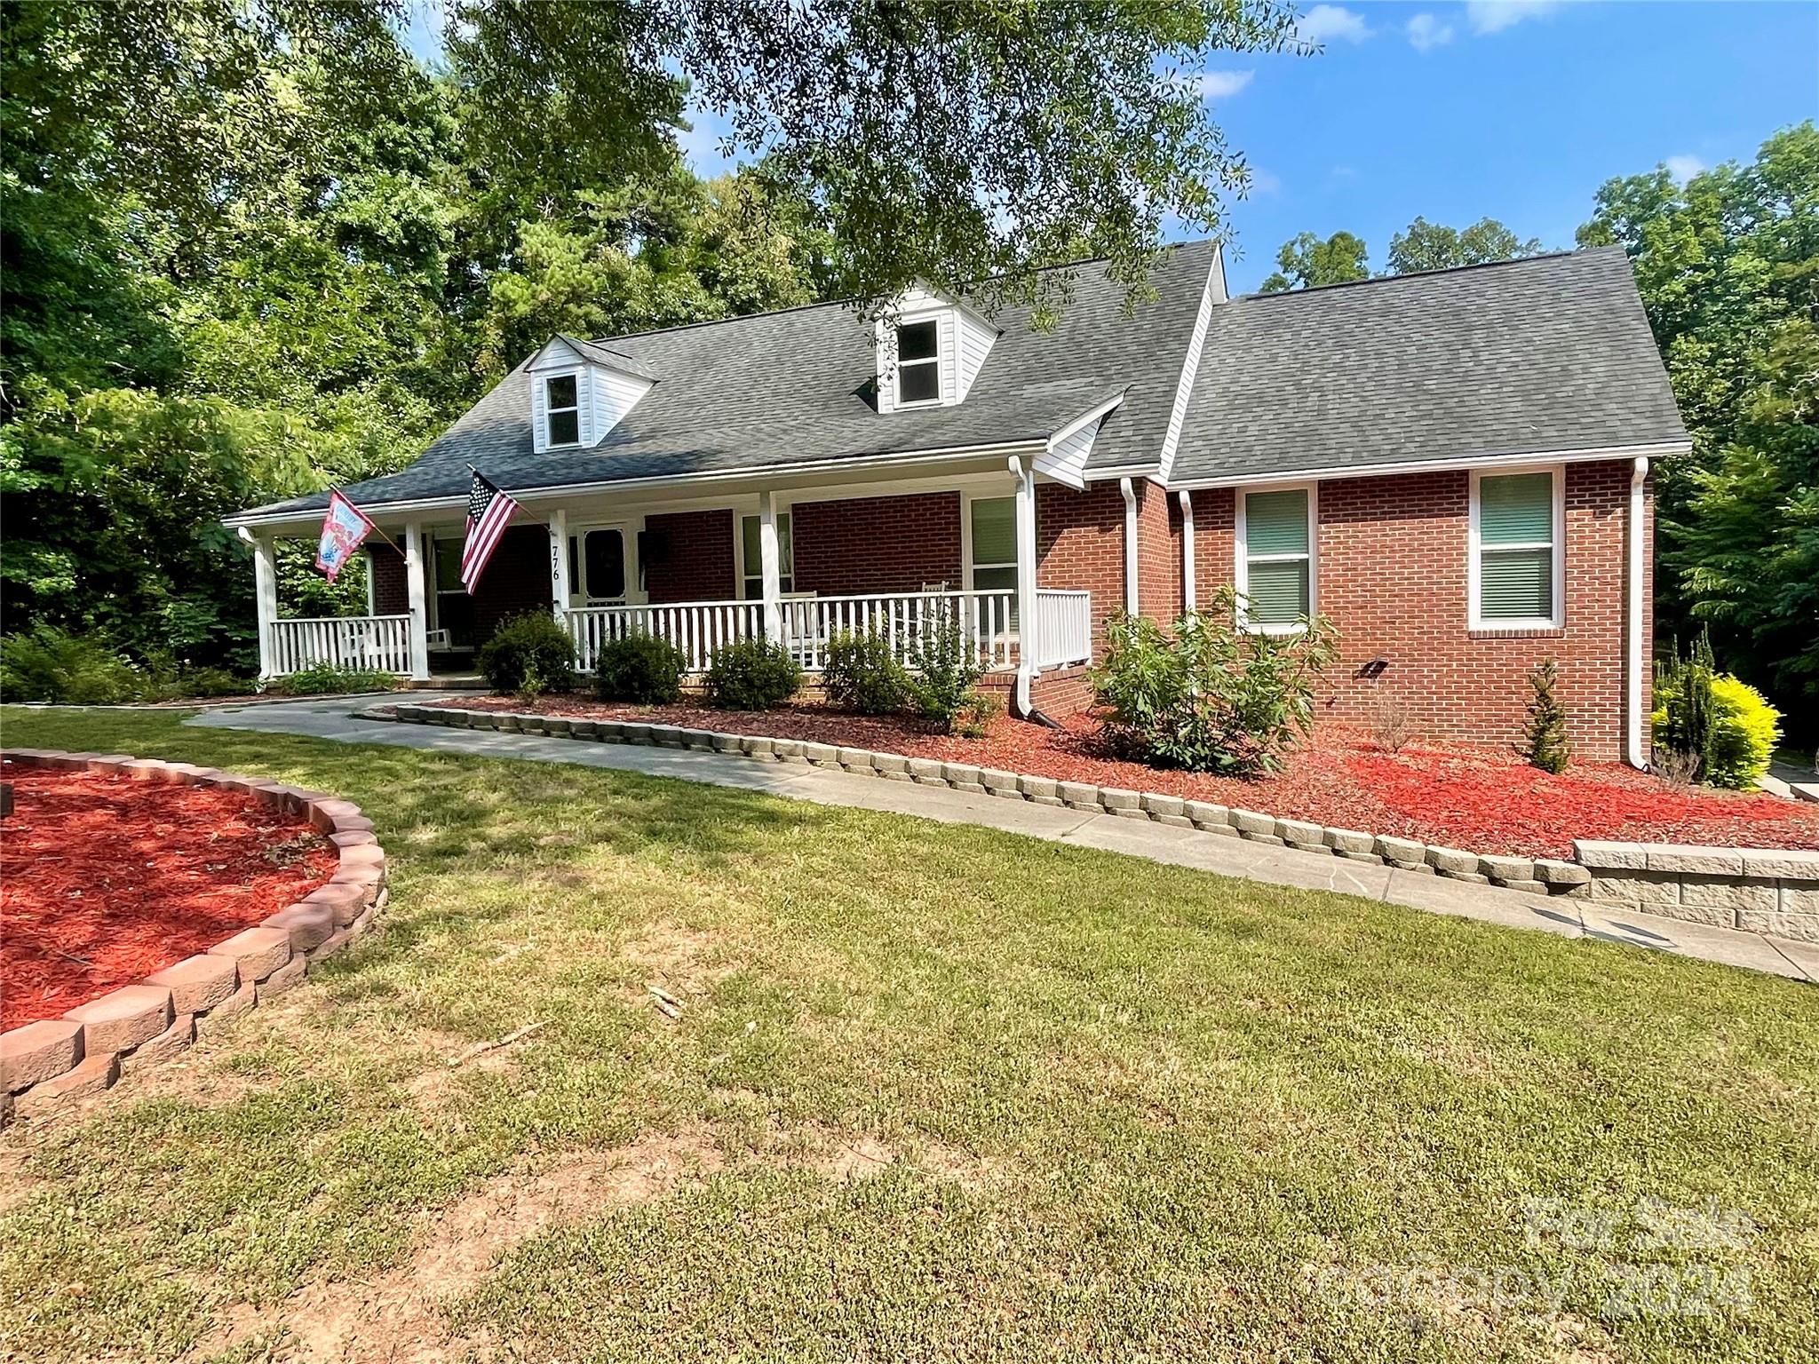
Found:
M 1382 267 L 1417 215 L 1501 218 L 1570 247 L 1613 175 L 1748 160 L 1819 116 L 1819 4 L 1302 4 L 1317 56 L 1208 64 L 1213 118 L 1255 184 L 1231 206 L 1231 289 L 1253 289 L 1302 231 L 1346 229 Z M 413 45 L 433 49 L 433 29 Z M 715 127 L 684 145 L 719 173 Z

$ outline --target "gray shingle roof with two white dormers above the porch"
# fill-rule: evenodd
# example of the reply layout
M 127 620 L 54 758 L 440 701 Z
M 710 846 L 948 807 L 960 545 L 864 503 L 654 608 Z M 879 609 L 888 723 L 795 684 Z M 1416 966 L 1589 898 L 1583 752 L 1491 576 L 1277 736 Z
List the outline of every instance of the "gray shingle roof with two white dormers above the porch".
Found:
M 1039 440 L 1121 391 L 1095 460 L 1153 464 L 1211 262 L 1210 242 L 1173 247 L 1151 276 L 1157 300 L 1133 313 L 1124 286 L 1100 266 L 1075 267 L 1073 298 L 1053 331 L 1033 331 L 1028 307 L 995 316 L 1002 335 L 953 407 L 879 415 L 868 402 L 871 329 L 842 304 L 586 342 L 657 376 L 593 449 L 533 451 L 529 380 L 518 366 L 407 469 L 344 491 L 384 507 L 466 493 L 467 464 L 518 491 Z M 315 495 L 249 515 L 326 502 Z

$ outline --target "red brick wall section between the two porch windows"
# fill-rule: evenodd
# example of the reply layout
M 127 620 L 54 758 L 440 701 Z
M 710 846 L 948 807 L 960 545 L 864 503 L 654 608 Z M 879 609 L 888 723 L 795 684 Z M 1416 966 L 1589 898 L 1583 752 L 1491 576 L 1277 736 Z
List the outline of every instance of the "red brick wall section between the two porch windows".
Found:
M 924 582 L 966 586 L 959 493 L 797 502 L 789 537 L 797 591 L 848 597 L 917 591 Z

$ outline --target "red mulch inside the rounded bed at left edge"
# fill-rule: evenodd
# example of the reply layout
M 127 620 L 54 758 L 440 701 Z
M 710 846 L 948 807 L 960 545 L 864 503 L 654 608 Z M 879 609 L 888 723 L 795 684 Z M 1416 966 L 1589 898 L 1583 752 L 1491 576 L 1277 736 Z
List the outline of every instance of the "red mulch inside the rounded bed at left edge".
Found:
M 206 951 L 335 875 L 335 847 L 206 786 L 7 766 L 0 1029 Z

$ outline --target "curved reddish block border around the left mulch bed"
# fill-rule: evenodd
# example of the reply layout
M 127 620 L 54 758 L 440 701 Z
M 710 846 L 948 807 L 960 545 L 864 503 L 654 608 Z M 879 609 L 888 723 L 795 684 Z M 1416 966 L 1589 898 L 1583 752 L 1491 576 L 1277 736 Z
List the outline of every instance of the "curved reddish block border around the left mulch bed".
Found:
M 235 777 L 189 762 L 124 753 L 0 749 L 20 767 L 124 775 L 138 782 L 215 786 L 302 815 L 338 853 L 327 882 L 296 904 L 240 929 L 176 966 L 0 1033 L 0 1126 L 35 1118 L 107 1089 L 124 1071 L 153 1066 L 227 1018 L 296 986 L 311 964 L 360 938 L 386 904 L 386 849 L 360 807 L 320 791 Z

